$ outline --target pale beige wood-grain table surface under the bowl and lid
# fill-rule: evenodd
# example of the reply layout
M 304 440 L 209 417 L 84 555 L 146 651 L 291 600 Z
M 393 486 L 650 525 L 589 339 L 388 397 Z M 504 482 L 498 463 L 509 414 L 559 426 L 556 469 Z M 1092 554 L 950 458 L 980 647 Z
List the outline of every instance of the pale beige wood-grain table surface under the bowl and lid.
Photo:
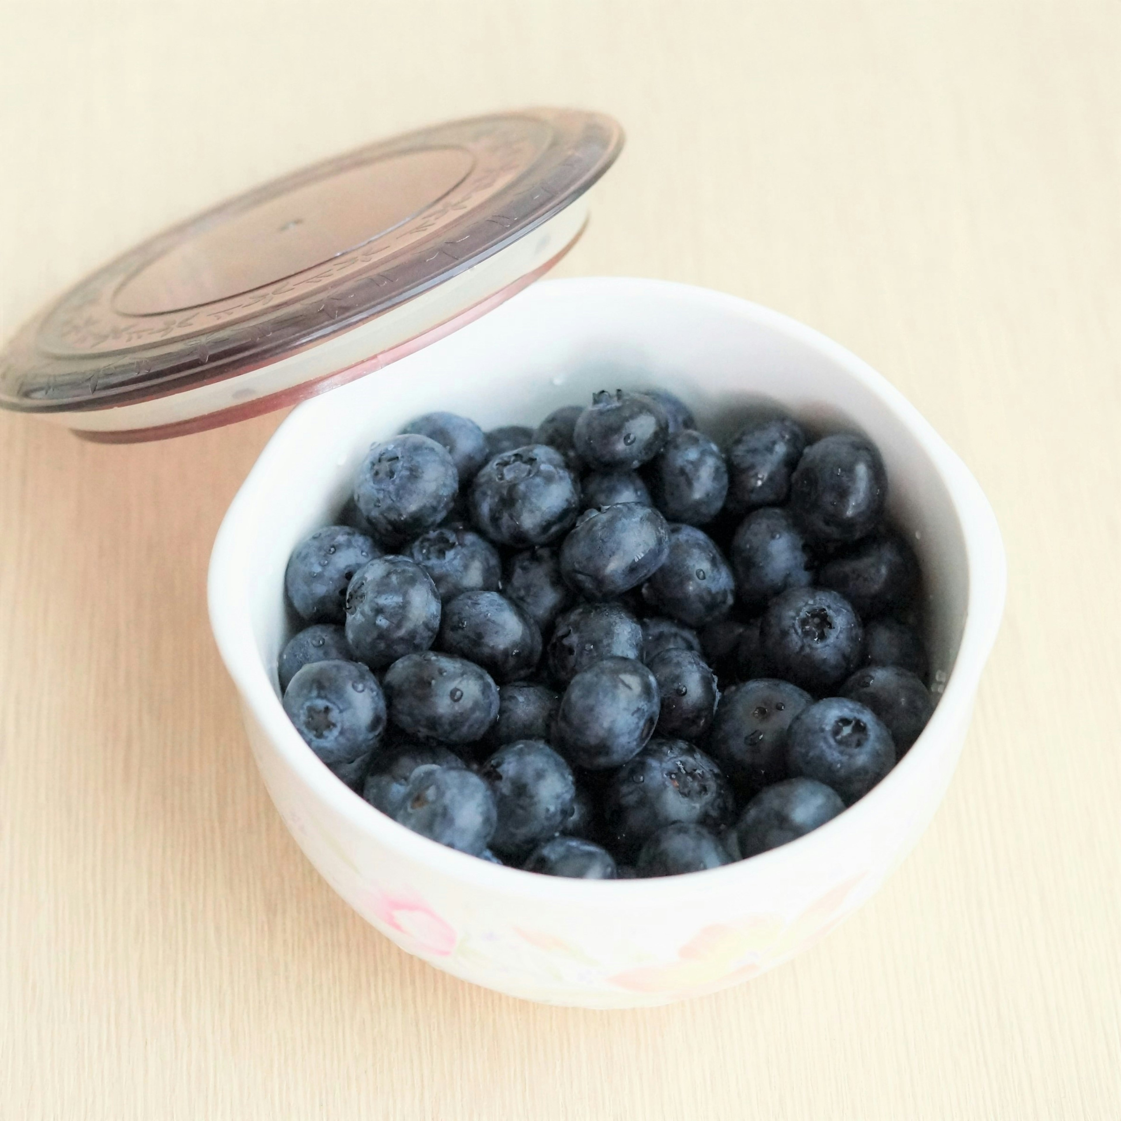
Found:
M 0 4 L 0 335 L 203 205 L 524 103 L 627 151 L 560 272 L 804 319 L 997 509 L 1003 631 L 912 856 L 677 1007 L 535 1007 L 368 927 L 258 780 L 205 613 L 279 417 L 137 447 L 0 417 L 0 1115 L 1121 1115 L 1117 3 Z

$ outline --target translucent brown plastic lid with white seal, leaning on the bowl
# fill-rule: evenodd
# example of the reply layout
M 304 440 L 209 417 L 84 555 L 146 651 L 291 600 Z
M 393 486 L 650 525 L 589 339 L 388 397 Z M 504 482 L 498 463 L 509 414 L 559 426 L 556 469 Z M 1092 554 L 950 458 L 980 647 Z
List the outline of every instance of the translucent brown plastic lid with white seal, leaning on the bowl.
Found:
M 102 441 L 293 405 L 442 337 L 552 267 L 622 148 L 532 109 L 296 172 L 99 269 L 0 354 L 0 405 Z

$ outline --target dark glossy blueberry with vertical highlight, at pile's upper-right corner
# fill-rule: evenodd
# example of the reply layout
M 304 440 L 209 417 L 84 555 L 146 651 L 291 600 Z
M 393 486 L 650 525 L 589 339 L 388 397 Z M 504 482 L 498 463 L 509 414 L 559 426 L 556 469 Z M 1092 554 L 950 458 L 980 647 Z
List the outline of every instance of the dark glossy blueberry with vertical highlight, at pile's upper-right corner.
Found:
M 810 444 L 790 479 L 790 511 L 818 545 L 844 545 L 870 534 L 887 498 L 880 453 L 843 433 Z

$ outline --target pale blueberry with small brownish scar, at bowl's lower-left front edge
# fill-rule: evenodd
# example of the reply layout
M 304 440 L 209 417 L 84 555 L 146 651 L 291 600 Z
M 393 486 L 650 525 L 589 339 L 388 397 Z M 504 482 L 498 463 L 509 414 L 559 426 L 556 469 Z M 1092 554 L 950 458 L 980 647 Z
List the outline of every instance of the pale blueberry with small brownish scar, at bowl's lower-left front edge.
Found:
M 418 767 L 393 815 L 414 833 L 473 856 L 490 843 L 497 816 L 490 787 L 462 767 Z

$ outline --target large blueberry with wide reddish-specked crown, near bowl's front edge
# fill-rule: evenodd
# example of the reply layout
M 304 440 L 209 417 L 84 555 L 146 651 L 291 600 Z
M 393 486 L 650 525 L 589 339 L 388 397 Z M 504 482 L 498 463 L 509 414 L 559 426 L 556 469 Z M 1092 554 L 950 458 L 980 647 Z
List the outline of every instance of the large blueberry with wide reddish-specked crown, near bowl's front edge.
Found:
M 735 803 L 714 760 L 691 743 L 658 739 L 610 777 L 603 812 L 612 849 L 630 858 L 675 822 L 723 830 Z

